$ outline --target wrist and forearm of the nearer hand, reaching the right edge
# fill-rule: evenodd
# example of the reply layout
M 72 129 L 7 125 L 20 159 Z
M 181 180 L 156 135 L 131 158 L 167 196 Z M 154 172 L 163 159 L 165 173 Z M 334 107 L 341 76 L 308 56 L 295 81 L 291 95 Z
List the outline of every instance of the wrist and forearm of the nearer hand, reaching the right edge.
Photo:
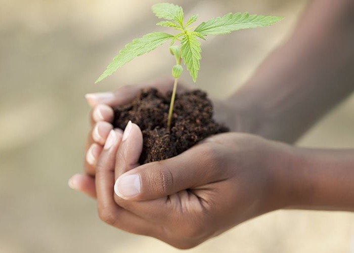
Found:
M 353 211 L 354 153 L 293 148 L 288 209 Z

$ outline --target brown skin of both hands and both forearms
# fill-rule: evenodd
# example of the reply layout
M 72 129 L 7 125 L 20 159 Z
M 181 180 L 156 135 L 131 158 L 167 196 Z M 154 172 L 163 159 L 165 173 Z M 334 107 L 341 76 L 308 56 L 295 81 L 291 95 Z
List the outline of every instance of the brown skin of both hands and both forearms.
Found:
M 139 165 L 139 127 L 133 122 L 122 134 L 107 123 L 110 107 L 128 103 L 141 87 L 90 95 L 92 123 L 100 127 L 89 135 L 86 173 L 70 185 L 97 198 L 108 224 L 178 248 L 281 208 L 353 212 L 354 150 L 278 142 L 295 142 L 354 90 L 353 13 L 351 0 L 314 1 L 246 85 L 215 102 L 215 116 L 233 132 L 167 160 Z M 153 86 L 165 91 L 171 83 Z

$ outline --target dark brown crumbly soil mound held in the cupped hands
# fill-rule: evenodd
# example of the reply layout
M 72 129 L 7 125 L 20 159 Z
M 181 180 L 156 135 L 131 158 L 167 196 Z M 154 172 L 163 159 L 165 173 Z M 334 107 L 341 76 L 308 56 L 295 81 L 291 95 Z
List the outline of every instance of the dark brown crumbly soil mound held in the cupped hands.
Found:
M 130 104 L 114 108 L 113 125 L 125 129 L 129 120 L 139 125 L 144 146 L 140 164 L 164 160 L 186 151 L 201 140 L 229 129 L 212 118 L 213 106 L 200 90 L 177 94 L 171 121 L 166 127 L 171 92 L 141 90 Z

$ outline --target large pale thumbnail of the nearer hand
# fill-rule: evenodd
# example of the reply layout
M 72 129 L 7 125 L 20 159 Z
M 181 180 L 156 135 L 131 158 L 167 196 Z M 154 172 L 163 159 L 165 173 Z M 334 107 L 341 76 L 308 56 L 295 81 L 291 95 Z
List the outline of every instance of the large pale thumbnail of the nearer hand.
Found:
M 114 192 L 119 197 L 132 197 L 140 193 L 140 176 L 137 174 L 118 178 L 114 184 Z

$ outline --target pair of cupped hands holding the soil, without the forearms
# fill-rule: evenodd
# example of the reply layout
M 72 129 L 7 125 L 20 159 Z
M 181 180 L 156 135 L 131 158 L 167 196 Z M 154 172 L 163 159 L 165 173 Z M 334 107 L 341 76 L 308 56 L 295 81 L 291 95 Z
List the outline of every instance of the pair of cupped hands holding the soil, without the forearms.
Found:
M 171 83 L 161 81 L 153 87 L 164 92 Z M 113 130 L 110 122 L 112 107 L 128 103 L 141 88 L 87 96 L 93 128 L 86 144 L 85 174 L 73 176 L 69 185 L 97 198 L 104 222 L 191 248 L 288 204 L 289 192 L 279 172 L 287 146 L 260 137 L 219 134 L 173 158 L 140 165 L 139 126 L 129 123 L 123 133 Z M 216 108 L 215 118 L 232 131 L 242 130 L 242 123 L 236 122 L 240 118 L 227 104 Z

